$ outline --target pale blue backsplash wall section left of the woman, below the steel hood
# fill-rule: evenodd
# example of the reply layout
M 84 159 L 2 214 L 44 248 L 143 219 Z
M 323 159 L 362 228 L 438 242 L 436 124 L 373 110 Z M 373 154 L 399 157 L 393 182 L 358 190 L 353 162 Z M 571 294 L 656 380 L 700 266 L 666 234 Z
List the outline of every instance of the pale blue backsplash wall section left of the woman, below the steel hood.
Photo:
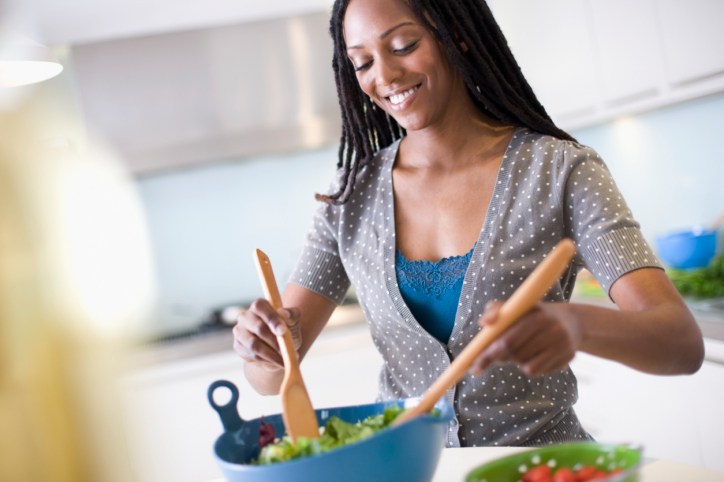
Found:
M 194 327 L 212 308 L 261 296 L 256 248 L 283 288 L 336 154 L 329 147 L 140 179 L 159 289 L 152 334 Z

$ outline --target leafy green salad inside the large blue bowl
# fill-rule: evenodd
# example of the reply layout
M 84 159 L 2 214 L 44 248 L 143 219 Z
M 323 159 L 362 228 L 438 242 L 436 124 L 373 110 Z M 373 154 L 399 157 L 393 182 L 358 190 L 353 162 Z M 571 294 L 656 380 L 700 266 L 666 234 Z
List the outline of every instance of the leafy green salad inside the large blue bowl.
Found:
M 403 411 L 404 408 L 391 405 L 386 407 L 383 413 L 370 415 L 357 423 L 345 422 L 339 417 L 330 417 L 324 427 L 320 429 L 318 439 L 299 437 L 296 443 L 292 443 L 289 436 L 285 435 L 281 439 L 263 446 L 254 463 L 258 465 L 274 464 L 321 454 L 337 447 L 359 442 L 388 427 Z

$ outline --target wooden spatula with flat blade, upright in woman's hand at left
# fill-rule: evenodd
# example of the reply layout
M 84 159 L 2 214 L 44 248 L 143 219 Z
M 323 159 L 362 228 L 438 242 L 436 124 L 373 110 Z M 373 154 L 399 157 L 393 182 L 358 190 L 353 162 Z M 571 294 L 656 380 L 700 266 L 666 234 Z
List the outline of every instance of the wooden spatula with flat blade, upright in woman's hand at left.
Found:
M 260 249 L 254 252 L 256 267 L 266 298 L 275 310 L 282 308 L 282 297 L 279 294 L 274 272 L 269 257 Z M 319 438 L 319 425 L 314 414 L 312 402 L 307 388 L 304 386 L 302 372 L 299 370 L 299 359 L 294 349 L 292 334 L 289 330 L 284 335 L 277 335 L 279 349 L 284 359 L 284 379 L 280 396 L 282 400 L 282 418 L 292 442 L 297 437 Z

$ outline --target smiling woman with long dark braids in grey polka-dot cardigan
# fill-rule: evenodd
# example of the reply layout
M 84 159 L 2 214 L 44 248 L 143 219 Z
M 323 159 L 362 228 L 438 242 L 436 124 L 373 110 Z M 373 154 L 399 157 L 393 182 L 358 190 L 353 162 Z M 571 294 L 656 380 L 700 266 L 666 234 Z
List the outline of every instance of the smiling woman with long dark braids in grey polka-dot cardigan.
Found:
M 482 1 L 339 0 L 331 34 L 339 177 L 275 313 L 244 312 L 234 346 L 278 393 L 274 333 L 301 357 L 350 284 L 384 358 L 382 399 L 421 395 L 563 237 L 577 255 L 447 397 L 449 446 L 589 438 L 572 409 L 577 351 L 695 372 L 701 333 L 602 160 L 557 128 Z M 619 310 L 570 304 L 588 268 Z

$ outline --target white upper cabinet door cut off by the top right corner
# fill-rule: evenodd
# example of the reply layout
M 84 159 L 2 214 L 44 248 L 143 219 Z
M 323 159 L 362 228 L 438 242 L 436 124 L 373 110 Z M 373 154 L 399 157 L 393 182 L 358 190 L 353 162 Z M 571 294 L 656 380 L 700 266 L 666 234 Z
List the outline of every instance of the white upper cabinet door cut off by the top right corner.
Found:
M 669 82 L 724 73 L 724 1 L 658 0 L 656 7 Z

